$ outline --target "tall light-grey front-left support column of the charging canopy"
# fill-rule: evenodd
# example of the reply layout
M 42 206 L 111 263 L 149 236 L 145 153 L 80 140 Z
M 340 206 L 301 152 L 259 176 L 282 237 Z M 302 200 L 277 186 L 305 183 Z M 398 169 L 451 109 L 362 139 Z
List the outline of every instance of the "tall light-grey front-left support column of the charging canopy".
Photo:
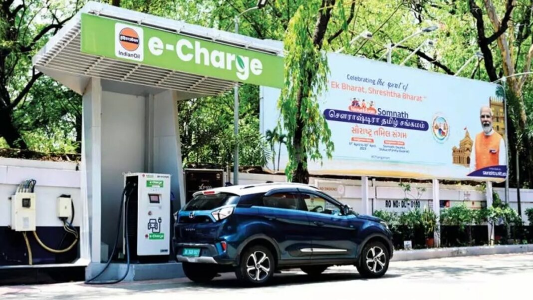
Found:
M 83 173 L 84 197 L 87 199 L 88 230 L 90 230 L 91 262 L 101 261 L 102 223 L 102 86 L 92 78 L 83 95 Z M 83 241 L 83 232 L 82 232 Z

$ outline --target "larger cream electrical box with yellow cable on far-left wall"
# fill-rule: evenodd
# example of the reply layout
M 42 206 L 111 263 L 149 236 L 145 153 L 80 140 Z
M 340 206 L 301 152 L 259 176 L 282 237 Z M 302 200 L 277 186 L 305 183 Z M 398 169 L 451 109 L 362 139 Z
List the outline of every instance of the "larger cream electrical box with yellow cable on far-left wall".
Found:
M 35 193 L 15 193 L 10 199 L 11 229 L 35 231 Z

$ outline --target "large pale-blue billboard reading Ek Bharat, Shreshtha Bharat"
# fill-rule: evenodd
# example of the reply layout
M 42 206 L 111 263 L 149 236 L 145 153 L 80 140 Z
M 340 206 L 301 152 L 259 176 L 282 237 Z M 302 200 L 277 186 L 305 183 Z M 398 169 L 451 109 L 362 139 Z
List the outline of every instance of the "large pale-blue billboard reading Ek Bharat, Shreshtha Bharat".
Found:
M 309 161 L 311 174 L 505 180 L 499 85 L 336 53 L 328 64 L 319 107 L 335 150 Z M 262 134 L 277 125 L 280 92 L 261 87 Z M 285 147 L 280 157 L 281 170 Z

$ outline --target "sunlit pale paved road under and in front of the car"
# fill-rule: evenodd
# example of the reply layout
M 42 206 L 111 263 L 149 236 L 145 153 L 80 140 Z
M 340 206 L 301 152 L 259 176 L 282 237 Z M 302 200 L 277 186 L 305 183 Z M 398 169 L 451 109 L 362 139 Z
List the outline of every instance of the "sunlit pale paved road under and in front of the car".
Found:
M 532 279 L 530 253 L 392 262 L 385 277 L 374 280 L 362 279 L 354 267 L 332 267 L 319 279 L 302 272 L 276 274 L 263 288 L 242 288 L 235 275 L 224 274 L 209 285 L 176 279 L 0 287 L 0 299 L 528 299 Z

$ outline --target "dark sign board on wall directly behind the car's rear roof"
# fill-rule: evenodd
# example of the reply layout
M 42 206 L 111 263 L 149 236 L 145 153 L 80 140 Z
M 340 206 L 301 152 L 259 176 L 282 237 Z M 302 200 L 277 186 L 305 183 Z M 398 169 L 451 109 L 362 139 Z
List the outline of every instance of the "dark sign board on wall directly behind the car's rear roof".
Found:
M 214 169 L 184 169 L 185 203 L 189 203 L 192 194 L 224 185 L 224 171 Z

